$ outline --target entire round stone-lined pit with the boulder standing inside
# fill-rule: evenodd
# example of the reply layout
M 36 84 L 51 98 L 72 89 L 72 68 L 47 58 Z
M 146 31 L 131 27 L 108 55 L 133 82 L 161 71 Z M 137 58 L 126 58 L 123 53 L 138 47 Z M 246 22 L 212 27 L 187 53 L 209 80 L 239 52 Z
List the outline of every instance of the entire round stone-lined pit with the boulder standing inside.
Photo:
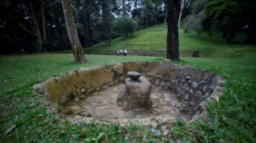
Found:
M 40 83 L 59 115 L 71 122 L 161 124 L 206 113 L 225 81 L 210 71 L 168 62 L 85 67 Z

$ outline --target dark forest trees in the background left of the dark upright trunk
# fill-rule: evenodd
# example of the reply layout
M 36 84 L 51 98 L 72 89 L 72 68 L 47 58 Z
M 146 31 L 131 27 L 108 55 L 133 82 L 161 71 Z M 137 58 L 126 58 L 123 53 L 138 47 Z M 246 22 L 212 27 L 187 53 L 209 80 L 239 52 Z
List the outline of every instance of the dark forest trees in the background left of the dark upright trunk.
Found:
M 73 15 L 83 47 L 105 41 L 111 44 L 121 32 L 115 21 L 132 17 L 140 29 L 164 22 L 164 0 L 73 0 Z M 0 53 L 26 53 L 70 49 L 61 0 L 2 0 L 0 2 Z M 129 28 L 132 33 L 134 22 Z M 127 27 L 127 25 L 126 25 Z M 117 33 L 117 35 L 116 35 Z M 126 35 L 126 34 L 125 34 Z M 23 49 L 21 51 L 21 49 Z

